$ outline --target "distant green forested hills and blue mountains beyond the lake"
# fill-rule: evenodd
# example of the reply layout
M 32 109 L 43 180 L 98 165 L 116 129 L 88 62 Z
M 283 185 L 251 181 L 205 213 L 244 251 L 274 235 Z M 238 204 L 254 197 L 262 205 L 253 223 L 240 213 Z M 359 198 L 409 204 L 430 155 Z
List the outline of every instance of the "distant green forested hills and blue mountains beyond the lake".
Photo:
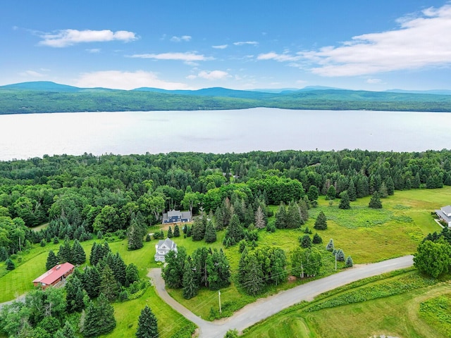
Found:
M 451 111 L 450 90 L 385 92 L 334 87 L 235 90 L 79 88 L 54 82 L 0 86 L 0 114 L 77 111 L 193 111 L 244 108 Z

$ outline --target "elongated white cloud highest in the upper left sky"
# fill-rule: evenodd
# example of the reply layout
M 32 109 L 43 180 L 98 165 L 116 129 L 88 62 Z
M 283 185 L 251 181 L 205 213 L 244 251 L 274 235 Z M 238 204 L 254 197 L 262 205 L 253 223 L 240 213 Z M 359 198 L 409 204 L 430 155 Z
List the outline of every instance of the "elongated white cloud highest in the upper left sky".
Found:
M 137 39 L 134 32 L 126 30 L 118 30 L 117 32 L 112 32 L 111 30 L 58 30 L 54 33 L 40 36 L 43 40 L 39 44 L 49 47 L 66 47 L 82 42 L 107 42 L 113 40 L 130 42 Z

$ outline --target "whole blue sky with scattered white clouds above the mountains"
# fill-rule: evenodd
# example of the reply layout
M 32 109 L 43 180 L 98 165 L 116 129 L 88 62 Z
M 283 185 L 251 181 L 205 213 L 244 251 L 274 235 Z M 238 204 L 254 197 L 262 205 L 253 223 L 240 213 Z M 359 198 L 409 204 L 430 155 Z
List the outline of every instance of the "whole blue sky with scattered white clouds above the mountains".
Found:
M 0 45 L 0 84 L 451 89 L 443 0 L 5 0 Z

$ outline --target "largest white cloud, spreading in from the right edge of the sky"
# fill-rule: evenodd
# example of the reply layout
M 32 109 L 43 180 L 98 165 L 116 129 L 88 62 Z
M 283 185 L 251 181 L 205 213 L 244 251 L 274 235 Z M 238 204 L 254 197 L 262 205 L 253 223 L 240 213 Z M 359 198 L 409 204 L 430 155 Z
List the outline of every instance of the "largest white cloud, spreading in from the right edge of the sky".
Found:
M 397 20 L 397 30 L 352 37 L 342 46 L 303 52 L 323 76 L 366 75 L 451 64 L 451 5 Z

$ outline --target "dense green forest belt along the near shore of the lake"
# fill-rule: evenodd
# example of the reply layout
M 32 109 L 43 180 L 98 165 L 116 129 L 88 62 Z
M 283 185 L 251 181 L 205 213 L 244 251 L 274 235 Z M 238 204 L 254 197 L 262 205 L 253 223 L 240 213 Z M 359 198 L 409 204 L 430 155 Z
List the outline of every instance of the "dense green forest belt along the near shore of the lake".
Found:
M 80 242 L 98 232 L 125 237 L 135 215 L 152 225 L 171 209 L 216 213 L 226 198 L 236 210 L 252 206 L 255 213 L 261 205 L 289 205 L 306 195 L 310 201 L 318 194 L 352 201 L 443 184 L 451 185 L 449 150 L 84 154 L 5 161 L 0 248 L 7 256 L 54 237 Z M 30 230 L 47 222 L 40 232 Z

